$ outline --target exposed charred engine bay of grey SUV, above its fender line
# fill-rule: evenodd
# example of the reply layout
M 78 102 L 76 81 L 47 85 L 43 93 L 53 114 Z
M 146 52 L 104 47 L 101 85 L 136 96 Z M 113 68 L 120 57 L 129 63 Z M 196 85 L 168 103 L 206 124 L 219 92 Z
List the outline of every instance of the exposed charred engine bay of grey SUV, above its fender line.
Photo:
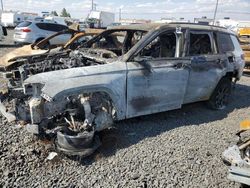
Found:
M 31 59 L 20 59 L 15 64 L 15 68 L 8 67 L 10 71 L 0 72 L 0 77 L 7 79 L 6 81 L 9 83 L 6 87 L 11 90 L 22 87 L 25 79 L 38 73 L 105 64 L 107 58 L 115 57 L 117 56 L 112 51 L 102 49 L 80 49 L 71 52 L 59 52 L 46 57 L 44 55 L 34 56 Z M 22 65 L 18 66 L 18 64 Z

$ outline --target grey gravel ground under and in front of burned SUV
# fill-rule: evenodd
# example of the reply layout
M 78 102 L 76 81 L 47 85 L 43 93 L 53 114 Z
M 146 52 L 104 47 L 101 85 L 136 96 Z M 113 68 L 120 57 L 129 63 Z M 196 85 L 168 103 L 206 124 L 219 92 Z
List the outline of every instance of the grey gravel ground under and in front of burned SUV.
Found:
M 227 180 L 221 153 L 249 117 L 249 93 L 245 75 L 223 111 L 196 103 L 119 122 L 117 139 L 82 160 L 46 160 L 51 142 L 0 118 L 0 187 L 239 187 Z

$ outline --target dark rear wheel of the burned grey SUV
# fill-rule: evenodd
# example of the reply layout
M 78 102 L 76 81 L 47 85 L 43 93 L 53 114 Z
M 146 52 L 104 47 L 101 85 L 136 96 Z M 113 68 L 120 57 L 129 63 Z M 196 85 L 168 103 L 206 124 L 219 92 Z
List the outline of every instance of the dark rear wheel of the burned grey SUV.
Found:
M 226 108 L 231 95 L 231 86 L 232 82 L 228 77 L 223 77 L 219 81 L 208 101 L 210 108 L 214 110 L 223 110 Z

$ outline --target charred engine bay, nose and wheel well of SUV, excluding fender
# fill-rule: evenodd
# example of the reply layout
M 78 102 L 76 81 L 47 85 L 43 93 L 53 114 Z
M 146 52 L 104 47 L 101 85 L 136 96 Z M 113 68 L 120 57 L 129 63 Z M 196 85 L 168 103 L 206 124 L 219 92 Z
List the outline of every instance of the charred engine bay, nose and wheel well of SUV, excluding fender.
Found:
M 93 54 L 98 55 L 95 57 Z M 4 102 L 0 105 L 2 115 L 10 122 L 21 120 L 28 123 L 26 129 L 33 134 L 56 136 L 59 151 L 69 155 L 90 155 L 100 146 L 96 132 L 113 124 L 108 96 L 105 93 L 90 93 L 52 100 L 42 93 L 42 83 L 26 84 L 24 80 L 31 74 L 106 64 L 109 59 L 105 60 L 102 56 L 112 55 L 105 50 L 81 49 L 71 52 L 68 57 L 51 57 L 22 66 L 23 74 L 19 79 L 8 79 L 8 98 L 4 100 L 5 105 Z M 23 89 L 18 90 L 21 86 Z M 2 97 L 4 99 L 4 95 Z

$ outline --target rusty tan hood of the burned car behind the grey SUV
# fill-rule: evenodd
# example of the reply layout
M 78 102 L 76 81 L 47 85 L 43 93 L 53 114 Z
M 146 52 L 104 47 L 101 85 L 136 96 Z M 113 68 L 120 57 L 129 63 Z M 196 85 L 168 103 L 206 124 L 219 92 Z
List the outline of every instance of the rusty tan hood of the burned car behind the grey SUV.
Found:
M 16 58 L 25 58 L 33 55 L 47 53 L 49 50 L 32 49 L 31 45 L 25 45 L 17 48 L 0 58 L 0 67 L 6 68 L 15 63 Z

